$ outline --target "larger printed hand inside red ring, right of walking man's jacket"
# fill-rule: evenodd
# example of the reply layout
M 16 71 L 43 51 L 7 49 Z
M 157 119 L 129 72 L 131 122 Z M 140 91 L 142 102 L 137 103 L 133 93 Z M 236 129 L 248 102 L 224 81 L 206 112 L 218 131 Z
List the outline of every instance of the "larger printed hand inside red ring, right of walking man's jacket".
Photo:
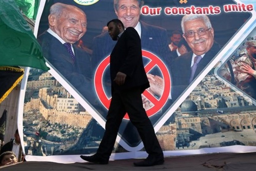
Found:
M 147 74 L 147 78 L 150 84 L 149 91 L 158 96 L 162 96 L 164 89 L 163 78 L 152 74 Z

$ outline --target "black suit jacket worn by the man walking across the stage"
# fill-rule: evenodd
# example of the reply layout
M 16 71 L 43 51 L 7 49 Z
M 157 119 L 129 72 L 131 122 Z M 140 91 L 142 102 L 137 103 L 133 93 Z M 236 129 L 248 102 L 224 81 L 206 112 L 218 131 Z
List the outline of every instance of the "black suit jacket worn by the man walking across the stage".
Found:
M 114 82 L 118 72 L 126 74 L 123 85 Z M 143 92 L 149 87 L 142 61 L 140 37 L 133 27 L 126 28 L 110 54 L 110 77 L 112 90 L 139 87 Z

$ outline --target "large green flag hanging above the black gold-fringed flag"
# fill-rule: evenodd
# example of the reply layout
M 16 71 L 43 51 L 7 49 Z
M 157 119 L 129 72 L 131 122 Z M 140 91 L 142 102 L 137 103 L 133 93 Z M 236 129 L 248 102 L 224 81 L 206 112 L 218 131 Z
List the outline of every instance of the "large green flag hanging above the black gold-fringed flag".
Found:
M 0 66 L 49 70 L 41 46 L 14 0 L 0 1 Z

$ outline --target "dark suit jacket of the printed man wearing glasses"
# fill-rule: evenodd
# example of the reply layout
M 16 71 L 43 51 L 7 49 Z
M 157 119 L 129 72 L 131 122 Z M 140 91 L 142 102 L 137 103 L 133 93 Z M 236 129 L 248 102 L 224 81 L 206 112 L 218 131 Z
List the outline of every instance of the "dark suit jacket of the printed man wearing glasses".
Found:
M 209 64 L 213 57 L 221 50 L 219 44 L 214 43 L 212 48 L 205 53 L 204 57 L 198 63 L 193 80 Z M 177 97 L 188 87 L 191 74 L 191 61 L 193 52 L 180 55 L 171 64 L 171 97 L 175 101 Z

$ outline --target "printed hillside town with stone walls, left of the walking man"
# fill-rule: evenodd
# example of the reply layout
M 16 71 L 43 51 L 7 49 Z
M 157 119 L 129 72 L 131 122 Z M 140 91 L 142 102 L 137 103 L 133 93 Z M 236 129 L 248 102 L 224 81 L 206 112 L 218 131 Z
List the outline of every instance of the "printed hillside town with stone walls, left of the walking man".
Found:
M 33 70 L 27 83 L 25 151 L 39 156 L 59 154 L 77 141 L 92 117 L 51 74 L 37 74 Z

